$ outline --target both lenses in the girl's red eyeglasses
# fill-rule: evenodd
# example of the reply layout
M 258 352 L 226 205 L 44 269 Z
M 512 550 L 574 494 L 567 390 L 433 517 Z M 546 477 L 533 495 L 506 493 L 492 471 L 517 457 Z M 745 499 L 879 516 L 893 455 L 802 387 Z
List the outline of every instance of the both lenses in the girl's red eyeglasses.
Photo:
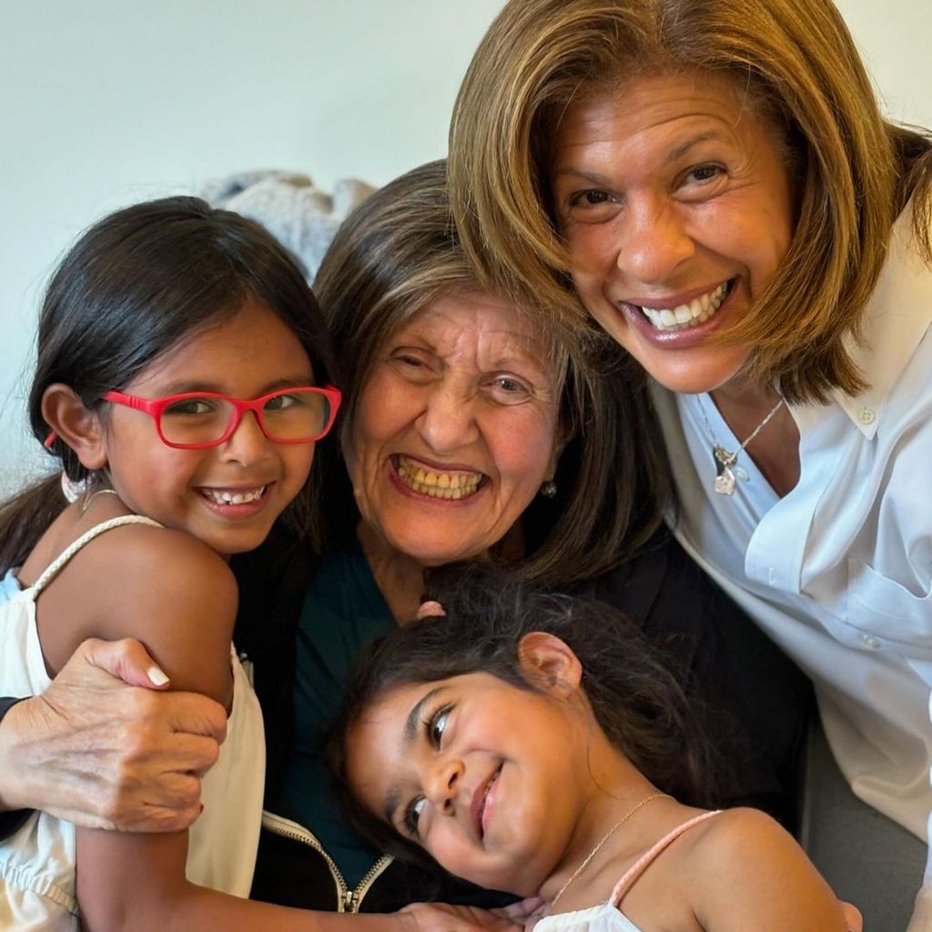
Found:
M 185 398 L 162 411 L 162 436 L 170 444 L 211 444 L 224 436 L 236 413 L 236 405 L 223 398 Z M 319 391 L 292 389 L 268 397 L 257 414 L 270 440 L 309 440 L 327 426 L 330 402 Z

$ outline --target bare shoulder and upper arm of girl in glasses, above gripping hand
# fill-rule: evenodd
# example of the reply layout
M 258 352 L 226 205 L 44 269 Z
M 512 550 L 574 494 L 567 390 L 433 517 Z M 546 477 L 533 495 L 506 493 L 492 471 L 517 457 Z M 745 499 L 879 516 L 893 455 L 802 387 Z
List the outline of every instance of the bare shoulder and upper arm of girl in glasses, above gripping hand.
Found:
M 130 524 L 90 541 L 40 596 L 48 664 L 86 637 L 136 637 L 171 688 L 226 703 L 237 587 L 223 558 L 184 531 Z

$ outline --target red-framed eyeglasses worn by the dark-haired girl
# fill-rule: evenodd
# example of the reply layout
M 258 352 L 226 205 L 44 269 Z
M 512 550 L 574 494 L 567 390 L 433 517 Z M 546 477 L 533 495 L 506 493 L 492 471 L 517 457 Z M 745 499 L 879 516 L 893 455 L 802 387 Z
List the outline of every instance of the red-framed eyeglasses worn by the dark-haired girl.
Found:
M 108 391 L 104 401 L 143 411 L 156 422 L 161 442 L 181 450 L 201 450 L 226 443 L 240 426 L 243 413 L 252 411 L 259 429 L 276 444 L 309 444 L 333 426 L 340 391 L 332 385 L 270 391 L 246 401 L 212 391 L 188 391 L 166 398 L 137 398 Z M 48 435 L 46 446 L 55 440 Z

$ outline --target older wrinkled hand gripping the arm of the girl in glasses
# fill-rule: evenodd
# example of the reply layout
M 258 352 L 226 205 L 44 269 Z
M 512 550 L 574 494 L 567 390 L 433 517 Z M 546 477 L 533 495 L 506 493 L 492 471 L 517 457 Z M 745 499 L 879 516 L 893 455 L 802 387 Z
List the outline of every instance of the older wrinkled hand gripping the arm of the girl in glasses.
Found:
M 85 641 L 46 692 L 0 723 L 0 808 L 91 829 L 187 828 L 226 712 L 196 693 L 159 692 L 167 686 L 138 641 Z

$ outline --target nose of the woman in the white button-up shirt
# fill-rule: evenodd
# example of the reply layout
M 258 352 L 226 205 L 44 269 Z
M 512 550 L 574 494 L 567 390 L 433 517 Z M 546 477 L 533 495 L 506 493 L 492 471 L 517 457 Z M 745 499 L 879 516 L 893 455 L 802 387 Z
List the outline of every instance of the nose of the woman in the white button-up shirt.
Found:
M 669 199 L 632 201 L 621 218 L 618 267 L 646 285 L 669 285 L 696 244 L 679 205 Z

